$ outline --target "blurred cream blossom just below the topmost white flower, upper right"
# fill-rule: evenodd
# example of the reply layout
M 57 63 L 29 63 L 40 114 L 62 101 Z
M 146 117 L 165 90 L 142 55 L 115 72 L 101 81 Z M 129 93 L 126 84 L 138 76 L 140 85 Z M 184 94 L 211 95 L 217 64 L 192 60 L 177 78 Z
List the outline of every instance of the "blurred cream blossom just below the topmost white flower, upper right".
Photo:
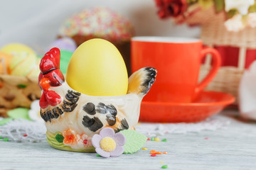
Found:
M 238 32 L 245 28 L 245 24 L 242 23 L 242 16 L 240 14 L 228 19 L 228 21 L 225 21 L 224 25 L 225 28 L 231 32 Z

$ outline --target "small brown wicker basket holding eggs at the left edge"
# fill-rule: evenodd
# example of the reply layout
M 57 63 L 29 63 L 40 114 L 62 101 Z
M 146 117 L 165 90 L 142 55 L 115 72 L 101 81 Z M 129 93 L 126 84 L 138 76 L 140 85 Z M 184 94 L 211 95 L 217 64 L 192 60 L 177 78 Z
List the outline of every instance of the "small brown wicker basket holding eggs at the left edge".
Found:
M 37 78 L 0 75 L 0 116 L 18 107 L 29 108 L 31 102 L 41 97 Z

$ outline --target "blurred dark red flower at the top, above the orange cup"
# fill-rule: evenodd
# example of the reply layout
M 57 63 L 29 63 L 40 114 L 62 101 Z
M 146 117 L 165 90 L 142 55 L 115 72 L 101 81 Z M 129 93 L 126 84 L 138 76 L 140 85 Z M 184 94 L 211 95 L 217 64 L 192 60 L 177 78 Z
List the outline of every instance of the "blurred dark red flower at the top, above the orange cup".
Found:
M 181 16 L 188 8 L 186 0 L 155 0 L 155 2 L 159 8 L 159 18 Z

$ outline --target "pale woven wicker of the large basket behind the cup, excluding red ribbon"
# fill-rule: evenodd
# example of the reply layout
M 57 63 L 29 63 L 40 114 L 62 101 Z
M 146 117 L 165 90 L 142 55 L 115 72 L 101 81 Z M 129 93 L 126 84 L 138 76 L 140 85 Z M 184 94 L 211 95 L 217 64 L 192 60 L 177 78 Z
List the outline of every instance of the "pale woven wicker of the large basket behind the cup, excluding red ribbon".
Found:
M 238 33 L 229 32 L 224 26 L 225 19 L 224 12 L 216 14 L 215 9 L 210 8 L 194 13 L 188 17 L 186 23 L 201 25 L 201 40 L 209 47 L 218 45 L 238 47 L 240 49 L 238 67 L 220 67 L 215 79 L 206 88 L 206 90 L 223 91 L 237 98 L 240 79 L 245 71 L 246 51 L 247 49 L 256 49 L 256 29 L 245 28 Z M 211 57 L 208 55 L 206 62 L 201 67 L 199 81 L 210 71 L 210 63 Z

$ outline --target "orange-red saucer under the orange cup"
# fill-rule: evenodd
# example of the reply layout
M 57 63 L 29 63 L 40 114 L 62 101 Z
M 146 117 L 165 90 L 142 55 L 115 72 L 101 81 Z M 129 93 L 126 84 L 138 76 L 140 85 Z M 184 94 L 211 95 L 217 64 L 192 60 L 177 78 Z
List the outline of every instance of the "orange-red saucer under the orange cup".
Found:
M 193 103 L 142 101 L 139 121 L 151 123 L 194 123 L 219 113 L 235 97 L 216 91 L 203 91 Z

